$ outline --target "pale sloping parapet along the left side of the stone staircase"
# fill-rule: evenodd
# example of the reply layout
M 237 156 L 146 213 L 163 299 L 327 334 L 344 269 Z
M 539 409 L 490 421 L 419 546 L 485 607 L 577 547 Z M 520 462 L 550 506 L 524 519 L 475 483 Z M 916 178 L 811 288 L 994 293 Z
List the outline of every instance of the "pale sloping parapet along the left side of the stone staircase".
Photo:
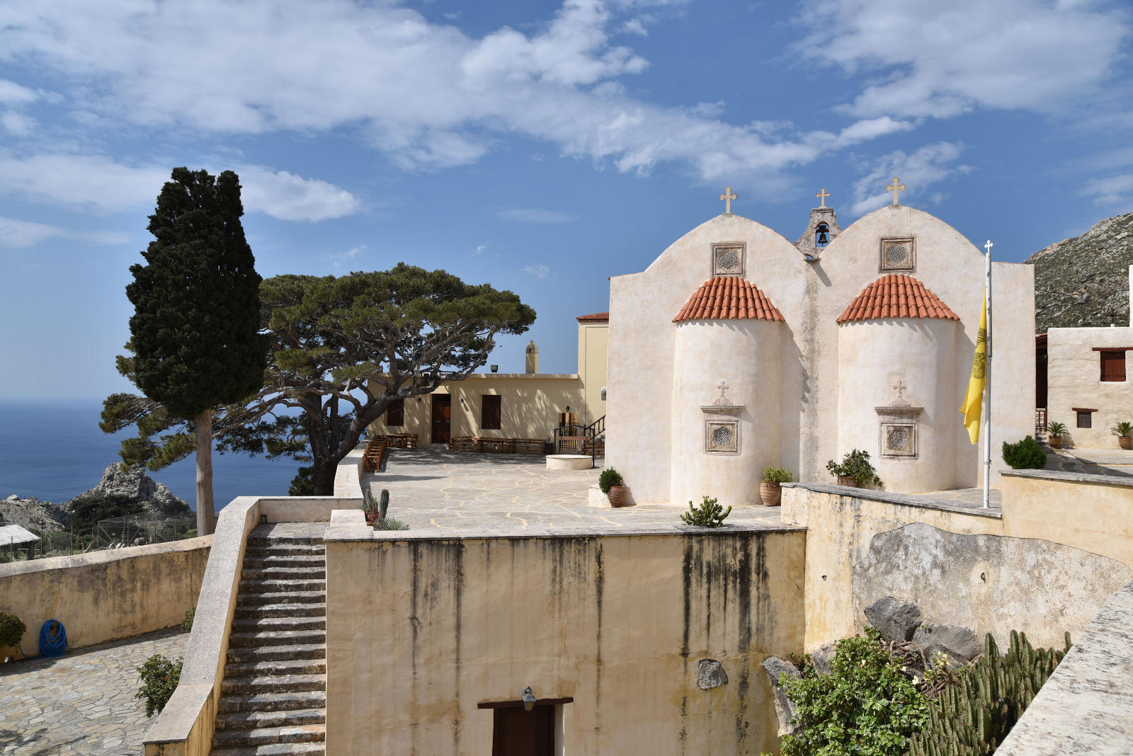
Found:
M 146 756 L 207 756 L 248 533 L 265 522 L 330 522 L 356 498 L 241 496 L 221 509 L 177 690 L 145 737 Z

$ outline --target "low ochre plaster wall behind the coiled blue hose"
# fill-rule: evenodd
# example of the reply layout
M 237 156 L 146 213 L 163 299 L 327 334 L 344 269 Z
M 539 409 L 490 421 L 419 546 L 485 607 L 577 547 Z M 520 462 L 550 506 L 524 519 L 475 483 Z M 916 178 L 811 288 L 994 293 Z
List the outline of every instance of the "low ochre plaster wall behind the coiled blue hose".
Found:
M 0 607 L 27 626 L 22 643 L 39 655 L 40 628 L 58 619 L 73 648 L 180 625 L 195 607 L 212 536 L 0 565 Z M 18 655 L 0 647 L 0 658 Z

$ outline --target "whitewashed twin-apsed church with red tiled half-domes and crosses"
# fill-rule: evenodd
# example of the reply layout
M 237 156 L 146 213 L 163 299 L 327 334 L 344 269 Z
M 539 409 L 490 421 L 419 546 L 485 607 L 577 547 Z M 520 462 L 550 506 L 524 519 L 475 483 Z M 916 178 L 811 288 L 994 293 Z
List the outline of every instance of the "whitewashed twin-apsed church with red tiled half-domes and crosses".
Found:
M 893 204 L 841 230 L 825 191 L 802 238 L 731 212 L 611 280 L 606 463 L 633 500 L 758 504 L 765 466 L 829 482 L 851 449 L 893 492 L 977 487 L 961 405 L 985 256 Z M 1033 268 L 993 263 L 993 484 L 1034 430 Z M 985 407 L 986 410 L 986 407 Z

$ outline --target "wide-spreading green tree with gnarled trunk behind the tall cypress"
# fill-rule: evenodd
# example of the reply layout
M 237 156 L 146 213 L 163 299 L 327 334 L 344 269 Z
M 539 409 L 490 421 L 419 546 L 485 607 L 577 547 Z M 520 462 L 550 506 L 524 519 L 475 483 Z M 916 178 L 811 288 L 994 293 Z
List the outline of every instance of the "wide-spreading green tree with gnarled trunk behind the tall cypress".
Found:
M 392 402 L 466 378 L 496 335 L 535 321 L 510 291 L 403 263 L 339 277 L 275 276 L 261 284 L 259 300 L 271 344 L 264 385 L 219 407 L 212 435 L 222 452 L 307 463 L 292 495 L 332 495 L 338 463 Z M 128 395 L 118 406 L 120 427 L 139 429 L 123 457 L 157 469 L 191 450 L 189 424 L 162 407 Z

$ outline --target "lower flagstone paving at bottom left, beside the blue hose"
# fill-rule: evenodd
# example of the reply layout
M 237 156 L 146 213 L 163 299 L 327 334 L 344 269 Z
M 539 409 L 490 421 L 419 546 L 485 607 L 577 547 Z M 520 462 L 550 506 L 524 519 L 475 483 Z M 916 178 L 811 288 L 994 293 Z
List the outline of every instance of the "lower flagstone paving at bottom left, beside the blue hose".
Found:
M 28 628 L 25 644 L 35 643 L 33 636 Z M 144 702 L 134 697 L 137 668 L 153 654 L 182 656 L 188 639 L 173 628 L 0 664 L 0 754 L 140 754 L 156 714 L 147 719 Z

